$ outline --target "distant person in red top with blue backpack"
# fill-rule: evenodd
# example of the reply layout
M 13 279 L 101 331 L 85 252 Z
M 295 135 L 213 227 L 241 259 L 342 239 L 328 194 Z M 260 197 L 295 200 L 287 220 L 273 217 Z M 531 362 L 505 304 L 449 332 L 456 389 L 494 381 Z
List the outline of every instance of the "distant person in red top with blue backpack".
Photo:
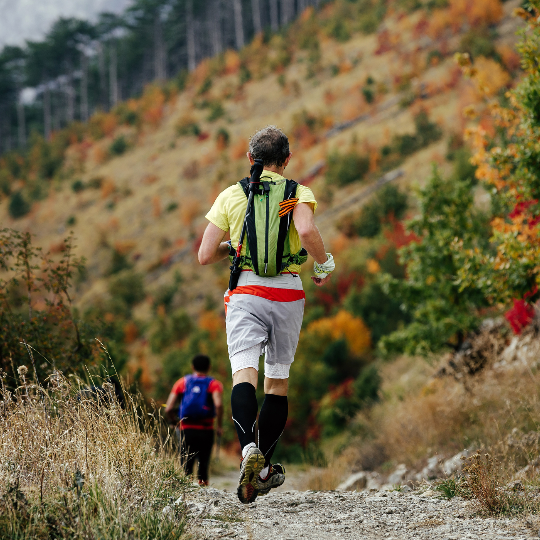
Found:
M 192 361 L 193 374 L 174 384 L 165 414 L 176 427 L 186 475 L 199 462 L 199 485 L 210 485 L 210 458 L 214 446 L 214 418 L 218 417 L 218 437 L 223 434 L 223 384 L 208 376 L 210 358 L 203 354 Z

